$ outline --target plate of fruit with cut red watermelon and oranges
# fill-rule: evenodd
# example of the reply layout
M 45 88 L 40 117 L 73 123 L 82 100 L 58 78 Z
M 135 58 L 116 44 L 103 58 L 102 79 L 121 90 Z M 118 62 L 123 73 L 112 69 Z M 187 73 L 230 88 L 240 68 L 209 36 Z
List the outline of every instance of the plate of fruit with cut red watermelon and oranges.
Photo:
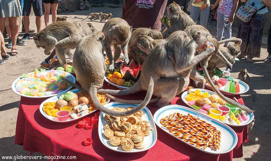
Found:
M 133 60 L 129 65 L 124 65 L 122 62 L 118 62 L 117 69 L 113 73 L 106 70 L 104 80 L 111 85 L 116 86 L 119 89 L 127 89 L 132 87 L 136 81 L 138 81 L 141 73 L 141 65 L 135 64 Z

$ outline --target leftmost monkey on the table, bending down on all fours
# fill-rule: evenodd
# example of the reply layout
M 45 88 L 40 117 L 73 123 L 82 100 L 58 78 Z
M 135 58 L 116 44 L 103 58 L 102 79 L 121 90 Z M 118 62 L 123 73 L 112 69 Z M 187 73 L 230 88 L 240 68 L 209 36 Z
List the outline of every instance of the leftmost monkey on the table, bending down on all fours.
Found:
M 33 36 L 36 46 L 44 48 L 46 55 L 51 54 L 49 57 L 53 57 L 56 54 L 61 63 L 60 65 L 66 65 L 67 63 L 65 54 L 70 58 L 73 57 L 73 53 L 70 50 L 76 48 L 81 38 L 78 27 L 67 21 L 52 23 Z M 51 53 L 52 50 L 54 51 Z

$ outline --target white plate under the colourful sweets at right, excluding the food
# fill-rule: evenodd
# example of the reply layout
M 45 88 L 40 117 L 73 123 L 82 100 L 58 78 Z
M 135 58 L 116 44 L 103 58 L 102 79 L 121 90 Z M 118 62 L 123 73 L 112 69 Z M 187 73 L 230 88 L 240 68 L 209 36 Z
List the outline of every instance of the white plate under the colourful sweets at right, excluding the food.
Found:
M 191 108 L 194 109 L 194 110 L 197 110 L 197 109 L 195 109 L 195 108 L 193 108 L 192 106 L 190 106 L 190 105 L 188 104 L 188 101 L 185 100 L 185 97 L 186 97 L 187 94 L 189 94 L 189 91 L 195 91 L 196 89 L 198 89 L 198 88 L 190 89 L 190 90 L 187 90 L 187 91 L 185 91 L 185 92 L 182 93 L 182 101 L 184 101 L 185 104 L 187 104 L 189 107 L 191 107 Z M 215 92 L 209 91 L 209 90 L 206 90 L 206 89 L 198 89 L 198 90 L 200 90 L 201 92 L 208 92 L 209 94 L 216 94 Z M 199 111 L 199 110 L 197 110 L 197 111 Z M 239 125 L 231 125 L 231 124 L 227 124 L 227 125 L 229 125 L 229 126 L 244 126 L 244 125 L 248 125 L 248 124 L 254 119 L 254 113 L 247 113 L 247 112 L 244 111 L 244 110 L 242 110 L 242 111 L 243 111 L 243 113 L 246 114 L 246 116 L 248 116 L 248 119 L 247 119 L 246 121 L 241 122 Z M 199 111 L 199 112 L 200 112 L 200 111 Z M 200 112 L 200 113 L 201 113 L 201 112 Z M 203 114 L 206 115 L 205 113 L 203 113 Z M 207 115 L 207 116 L 209 116 L 209 115 Z M 209 117 L 210 117 L 210 116 L 209 116 Z M 217 119 L 217 121 L 221 122 L 221 121 L 218 120 L 218 119 Z M 223 123 L 224 123 L 224 122 L 223 122 Z

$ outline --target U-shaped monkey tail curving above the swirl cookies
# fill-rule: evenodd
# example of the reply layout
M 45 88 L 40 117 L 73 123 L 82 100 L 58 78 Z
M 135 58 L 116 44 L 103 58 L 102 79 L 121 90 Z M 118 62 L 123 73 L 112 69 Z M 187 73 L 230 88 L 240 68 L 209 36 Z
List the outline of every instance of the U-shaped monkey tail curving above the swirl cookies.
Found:
M 92 99 L 93 104 L 98 108 L 98 110 L 100 110 L 101 112 L 106 113 L 110 116 L 121 116 L 122 117 L 122 116 L 130 116 L 130 115 L 142 110 L 144 107 L 146 107 L 146 105 L 151 100 L 151 96 L 153 93 L 153 87 L 154 87 L 154 82 L 153 82 L 153 79 L 151 78 L 150 83 L 149 83 L 149 87 L 148 87 L 148 91 L 147 91 L 147 94 L 146 94 L 144 101 L 141 104 L 139 104 L 136 108 L 129 110 L 129 111 L 124 111 L 124 112 L 113 111 L 113 110 L 110 110 L 110 109 L 104 107 L 97 98 L 97 89 L 96 88 L 91 88 L 89 91 L 89 95 L 90 95 L 90 98 Z

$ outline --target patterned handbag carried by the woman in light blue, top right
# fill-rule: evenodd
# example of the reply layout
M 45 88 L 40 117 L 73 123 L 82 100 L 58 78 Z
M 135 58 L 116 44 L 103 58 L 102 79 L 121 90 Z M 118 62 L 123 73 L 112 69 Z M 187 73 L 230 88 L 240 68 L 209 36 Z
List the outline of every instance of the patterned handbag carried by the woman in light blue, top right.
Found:
M 262 10 L 263 8 L 266 7 L 266 5 L 264 5 L 264 6 L 261 7 L 259 10 L 257 10 L 257 9 L 254 7 L 254 4 L 255 4 L 255 3 L 253 2 L 251 5 L 248 5 L 248 3 L 246 3 L 245 5 L 242 5 L 242 6 L 238 9 L 238 11 L 237 11 L 237 13 L 236 13 L 236 16 L 237 16 L 240 20 L 242 20 L 242 21 L 248 23 L 248 22 L 255 16 L 255 14 L 256 14 L 258 11 L 260 11 L 260 10 Z

